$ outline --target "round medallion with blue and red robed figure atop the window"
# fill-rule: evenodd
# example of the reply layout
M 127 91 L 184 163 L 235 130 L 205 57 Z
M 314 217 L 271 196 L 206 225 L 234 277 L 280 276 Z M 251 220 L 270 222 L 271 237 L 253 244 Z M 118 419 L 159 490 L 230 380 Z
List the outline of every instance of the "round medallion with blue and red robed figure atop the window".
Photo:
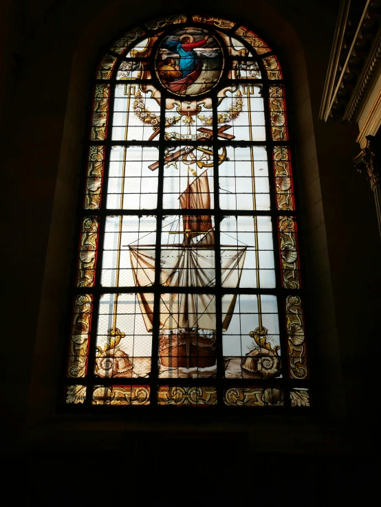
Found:
M 183 28 L 168 35 L 155 58 L 157 78 L 175 95 L 209 91 L 219 82 L 223 69 L 221 45 L 199 28 Z

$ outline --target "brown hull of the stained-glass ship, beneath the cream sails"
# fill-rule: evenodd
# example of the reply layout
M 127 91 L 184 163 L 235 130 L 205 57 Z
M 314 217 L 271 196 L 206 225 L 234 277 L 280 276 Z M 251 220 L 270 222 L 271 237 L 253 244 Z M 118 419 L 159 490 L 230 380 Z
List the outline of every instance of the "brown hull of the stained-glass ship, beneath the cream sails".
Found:
M 210 368 L 216 363 L 215 334 L 160 335 L 160 363 L 166 368 Z

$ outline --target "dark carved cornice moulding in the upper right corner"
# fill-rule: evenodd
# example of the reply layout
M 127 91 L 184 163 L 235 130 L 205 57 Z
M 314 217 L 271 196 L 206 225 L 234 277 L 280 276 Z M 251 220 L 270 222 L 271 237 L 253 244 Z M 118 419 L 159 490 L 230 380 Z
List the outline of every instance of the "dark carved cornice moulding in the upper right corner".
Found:
M 353 122 L 381 61 L 381 0 L 342 0 L 320 119 Z

